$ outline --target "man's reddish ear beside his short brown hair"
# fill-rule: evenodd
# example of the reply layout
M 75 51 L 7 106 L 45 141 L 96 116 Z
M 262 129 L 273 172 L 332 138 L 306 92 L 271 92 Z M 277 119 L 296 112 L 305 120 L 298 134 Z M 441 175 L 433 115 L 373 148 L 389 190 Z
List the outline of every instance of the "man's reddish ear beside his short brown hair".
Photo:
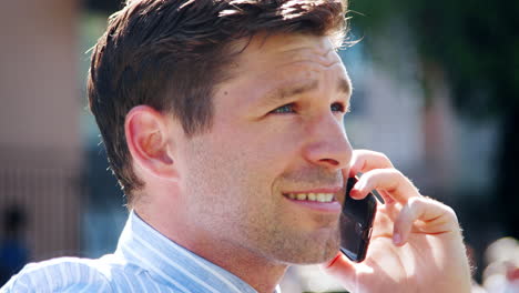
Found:
M 133 163 L 151 175 L 171 180 L 177 172 L 167 119 L 149 105 L 138 105 L 126 114 L 124 132 Z

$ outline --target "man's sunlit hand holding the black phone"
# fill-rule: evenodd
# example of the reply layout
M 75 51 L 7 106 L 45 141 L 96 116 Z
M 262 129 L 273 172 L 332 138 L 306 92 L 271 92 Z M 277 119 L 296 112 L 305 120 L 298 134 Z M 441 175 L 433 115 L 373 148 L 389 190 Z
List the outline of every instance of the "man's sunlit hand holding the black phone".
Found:
M 363 199 L 377 190 L 379 203 L 367 256 L 337 256 L 322 269 L 347 290 L 359 292 L 470 292 L 470 269 L 456 213 L 420 195 L 389 159 L 355 151 L 350 175 L 364 175 L 350 192 Z

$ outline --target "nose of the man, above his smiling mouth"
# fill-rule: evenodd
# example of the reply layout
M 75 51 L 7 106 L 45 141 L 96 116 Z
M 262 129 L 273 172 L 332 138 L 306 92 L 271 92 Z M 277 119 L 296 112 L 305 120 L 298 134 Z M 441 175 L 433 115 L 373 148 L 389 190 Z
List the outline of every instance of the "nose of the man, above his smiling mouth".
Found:
M 308 141 L 305 144 L 305 159 L 330 171 L 345 169 L 352 160 L 349 144 L 343 122 L 332 113 L 320 117 L 307 127 Z

